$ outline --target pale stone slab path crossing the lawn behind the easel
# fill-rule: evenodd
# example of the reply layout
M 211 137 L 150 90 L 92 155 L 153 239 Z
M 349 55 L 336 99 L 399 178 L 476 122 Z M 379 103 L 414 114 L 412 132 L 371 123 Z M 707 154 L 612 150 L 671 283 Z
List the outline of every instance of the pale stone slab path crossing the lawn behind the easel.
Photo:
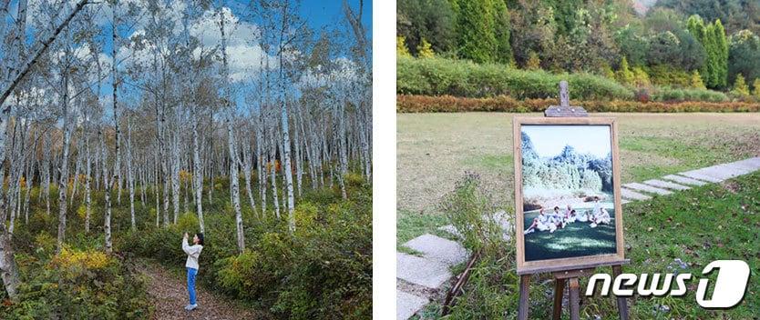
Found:
M 630 183 L 621 186 L 622 203 L 652 199 L 652 196 L 672 195 L 674 192 L 688 190 L 693 186 L 723 182 L 738 175 L 746 175 L 760 170 L 760 156 L 723 165 L 713 165 L 665 175 L 660 179 L 651 179 L 643 183 Z M 504 230 L 504 238 L 511 234 L 507 214 L 496 215 L 498 223 Z M 438 230 L 460 238 L 461 234 L 453 225 L 444 225 Z M 457 243 L 436 235 L 420 235 L 404 244 L 421 256 L 396 253 L 396 319 L 406 320 L 420 309 L 438 298 L 443 285 L 451 279 L 450 268 L 465 262 L 468 253 Z

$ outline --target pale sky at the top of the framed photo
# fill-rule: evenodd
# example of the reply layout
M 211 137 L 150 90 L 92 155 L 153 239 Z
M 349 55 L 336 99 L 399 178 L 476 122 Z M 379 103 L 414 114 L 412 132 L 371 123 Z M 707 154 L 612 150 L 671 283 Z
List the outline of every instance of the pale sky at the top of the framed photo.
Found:
M 609 125 L 522 125 L 540 157 L 559 155 L 565 145 L 598 157 L 611 151 Z

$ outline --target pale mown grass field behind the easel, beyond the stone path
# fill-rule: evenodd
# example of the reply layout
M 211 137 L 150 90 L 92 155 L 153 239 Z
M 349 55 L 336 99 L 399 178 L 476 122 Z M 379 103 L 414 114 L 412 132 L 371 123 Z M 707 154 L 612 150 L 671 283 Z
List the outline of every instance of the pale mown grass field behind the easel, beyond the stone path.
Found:
M 466 171 L 481 175 L 499 204 L 513 206 L 515 115 L 396 115 L 398 244 L 447 224 L 436 205 Z M 618 119 L 622 183 L 760 155 L 758 113 L 591 116 Z

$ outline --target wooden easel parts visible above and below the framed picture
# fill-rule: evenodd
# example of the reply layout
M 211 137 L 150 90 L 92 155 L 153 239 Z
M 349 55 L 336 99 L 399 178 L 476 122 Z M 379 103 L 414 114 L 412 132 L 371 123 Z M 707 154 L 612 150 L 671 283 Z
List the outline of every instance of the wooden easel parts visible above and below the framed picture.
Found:
M 566 81 L 560 81 L 560 105 L 551 105 L 546 111 L 544 116 L 548 117 L 585 117 L 589 116 L 585 109 L 581 106 L 570 106 L 570 92 L 568 91 L 568 83 Z M 621 274 L 622 265 L 627 264 L 628 260 L 615 262 L 612 264 L 604 264 L 612 266 L 612 276 L 617 277 Z M 529 287 L 530 276 L 542 272 L 551 272 L 554 277 L 554 307 L 552 312 L 552 319 L 560 320 L 562 315 L 562 298 L 564 297 L 565 285 L 568 283 L 569 306 L 570 306 L 570 319 L 580 319 L 580 284 L 578 278 L 585 275 L 593 275 L 597 266 L 601 265 L 588 265 L 578 269 L 572 270 L 534 270 L 527 274 L 522 274 L 519 277 L 519 308 L 518 319 L 527 320 L 529 313 Z M 617 297 L 618 312 L 621 320 L 628 320 L 628 303 L 624 297 Z

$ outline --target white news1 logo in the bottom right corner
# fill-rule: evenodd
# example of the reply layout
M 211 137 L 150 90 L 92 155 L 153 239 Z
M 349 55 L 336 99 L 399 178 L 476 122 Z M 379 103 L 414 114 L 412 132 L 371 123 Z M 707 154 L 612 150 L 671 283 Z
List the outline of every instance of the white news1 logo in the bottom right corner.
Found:
M 699 279 L 696 291 L 697 304 L 704 308 L 730 308 L 737 305 L 745 296 L 749 282 L 749 265 L 742 260 L 715 260 L 702 269 L 702 275 L 709 275 L 714 270 L 718 270 L 718 275 L 713 286 L 713 296 L 710 299 L 705 298 L 711 282 L 710 279 Z M 660 285 L 661 277 L 661 274 L 652 274 L 651 277 L 648 274 L 621 274 L 616 276 L 615 281 L 612 282 L 610 275 L 596 274 L 589 279 L 586 295 L 593 295 L 597 283 L 601 282 L 601 295 L 610 294 L 612 283 L 613 295 L 632 296 L 633 285 L 638 283 L 635 286 L 637 295 L 681 296 L 686 294 L 686 281 L 692 279 L 692 274 L 664 275 L 664 281 Z

